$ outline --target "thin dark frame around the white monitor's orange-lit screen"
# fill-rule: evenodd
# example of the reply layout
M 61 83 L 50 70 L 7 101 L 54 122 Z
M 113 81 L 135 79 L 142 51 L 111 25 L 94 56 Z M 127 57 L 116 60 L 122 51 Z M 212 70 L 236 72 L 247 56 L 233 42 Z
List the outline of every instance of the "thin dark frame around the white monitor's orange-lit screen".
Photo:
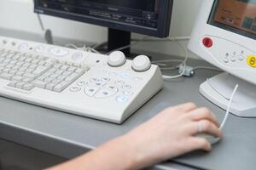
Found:
M 214 14 L 216 14 L 216 11 L 217 11 L 217 8 L 218 8 L 218 3 L 219 3 L 219 0 L 214 0 L 214 3 L 212 5 L 212 11 L 211 11 L 209 19 L 207 21 L 207 24 L 209 24 L 211 26 L 217 26 L 218 28 L 224 29 L 226 31 L 231 31 L 231 32 L 239 34 L 241 36 L 249 37 L 249 38 L 252 38 L 252 39 L 256 40 L 256 34 L 253 34 L 253 33 L 248 32 L 248 31 L 243 31 L 243 30 L 238 29 L 236 27 L 224 25 L 223 23 L 219 23 L 219 22 L 215 21 L 214 20 Z

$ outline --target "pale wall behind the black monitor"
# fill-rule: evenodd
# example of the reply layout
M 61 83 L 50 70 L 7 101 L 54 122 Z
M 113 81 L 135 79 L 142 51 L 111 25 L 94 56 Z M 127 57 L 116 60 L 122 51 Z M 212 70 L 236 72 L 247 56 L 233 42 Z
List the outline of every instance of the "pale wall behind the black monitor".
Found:
M 190 35 L 195 16 L 202 0 L 174 0 L 171 37 Z M 42 16 L 44 26 L 53 31 L 55 37 L 79 41 L 102 42 L 107 39 L 107 29 L 101 26 Z M 32 0 L 0 0 L 0 27 L 41 33 L 37 15 L 33 13 Z M 141 37 L 135 35 L 134 37 Z M 183 42 L 186 45 L 186 42 Z M 172 42 L 143 42 L 136 48 L 163 54 L 183 55 L 183 51 Z

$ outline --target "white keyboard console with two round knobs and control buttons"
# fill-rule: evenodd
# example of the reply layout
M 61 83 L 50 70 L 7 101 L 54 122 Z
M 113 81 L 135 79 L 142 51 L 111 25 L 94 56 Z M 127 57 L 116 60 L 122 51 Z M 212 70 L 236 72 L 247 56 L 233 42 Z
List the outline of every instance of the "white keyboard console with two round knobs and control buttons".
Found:
M 125 59 L 0 37 L 0 95 L 121 123 L 163 87 L 146 56 Z

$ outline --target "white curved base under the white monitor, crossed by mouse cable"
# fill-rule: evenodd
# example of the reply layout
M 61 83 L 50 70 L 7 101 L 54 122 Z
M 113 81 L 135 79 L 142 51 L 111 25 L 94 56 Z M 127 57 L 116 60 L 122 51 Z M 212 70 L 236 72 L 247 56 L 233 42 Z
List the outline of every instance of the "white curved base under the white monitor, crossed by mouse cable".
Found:
M 230 113 L 241 117 L 256 117 L 256 86 L 240 78 L 224 72 L 203 82 L 200 93 L 213 104 L 226 110 L 236 84 L 239 88 L 234 96 Z

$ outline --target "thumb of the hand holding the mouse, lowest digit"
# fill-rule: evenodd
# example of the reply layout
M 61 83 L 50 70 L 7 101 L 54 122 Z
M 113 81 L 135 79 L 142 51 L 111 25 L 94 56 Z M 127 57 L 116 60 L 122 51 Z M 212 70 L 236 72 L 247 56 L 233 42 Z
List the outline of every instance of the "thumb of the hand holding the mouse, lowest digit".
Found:
M 212 144 L 210 144 L 207 139 L 199 137 L 191 137 L 189 139 L 189 149 L 192 150 L 212 150 Z

